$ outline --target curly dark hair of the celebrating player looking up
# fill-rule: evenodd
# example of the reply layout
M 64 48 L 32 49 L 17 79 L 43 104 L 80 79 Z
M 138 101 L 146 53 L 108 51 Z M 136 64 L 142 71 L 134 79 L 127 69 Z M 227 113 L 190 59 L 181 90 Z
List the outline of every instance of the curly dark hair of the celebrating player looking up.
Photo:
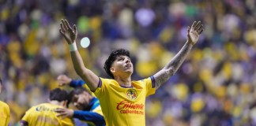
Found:
M 113 50 L 111 52 L 111 54 L 109 55 L 109 57 L 107 58 L 107 60 L 105 61 L 105 64 L 104 64 L 104 69 L 105 71 L 107 72 L 107 75 L 108 76 L 111 76 L 111 78 L 115 78 L 113 76 L 113 74 L 111 73 L 110 71 L 110 68 L 111 68 L 111 65 L 113 64 L 113 62 L 115 61 L 116 57 L 119 57 L 119 56 L 122 56 L 122 55 L 125 55 L 127 57 L 130 57 L 130 52 L 129 50 L 125 50 L 125 49 L 119 49 L 119 50 Z

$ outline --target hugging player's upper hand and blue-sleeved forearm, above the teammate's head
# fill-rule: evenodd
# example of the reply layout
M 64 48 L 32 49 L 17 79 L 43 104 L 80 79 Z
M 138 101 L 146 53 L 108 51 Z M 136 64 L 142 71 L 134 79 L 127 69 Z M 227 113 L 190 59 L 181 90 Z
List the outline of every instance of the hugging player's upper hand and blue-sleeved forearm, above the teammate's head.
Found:
M 70 87 L 82 87 L 85 84 L 84 80 L 72 80 L 69 76 L 66 75 L 59 75 L 57 77 L 58 86 L 70 86 Z

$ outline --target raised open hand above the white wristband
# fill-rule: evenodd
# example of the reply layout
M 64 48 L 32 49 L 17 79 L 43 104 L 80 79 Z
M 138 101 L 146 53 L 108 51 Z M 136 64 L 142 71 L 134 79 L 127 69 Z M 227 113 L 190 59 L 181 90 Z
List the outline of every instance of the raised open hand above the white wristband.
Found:
M 67 20 L 63 20 L 61 22 L 61 28 L 59 29 L 59 32 L 64 36 L 66 39 L 66 42 L 68 44 L 75 43 L 77 39 L 77 26 L 73 24 L 73 29 L 70 27 L 70 24 Z

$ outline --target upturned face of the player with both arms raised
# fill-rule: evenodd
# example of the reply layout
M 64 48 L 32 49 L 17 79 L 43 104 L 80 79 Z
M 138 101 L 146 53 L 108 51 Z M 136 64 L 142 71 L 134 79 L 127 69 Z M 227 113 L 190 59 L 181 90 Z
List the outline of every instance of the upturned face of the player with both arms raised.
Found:
M 127 57 L 126 55 L 117 57 L 113 62 L 111 72 L 113 72 L 115 75 L 123 73 L 132 74 L 134 72 L 134 65 L 130 61 L 130 57 Z

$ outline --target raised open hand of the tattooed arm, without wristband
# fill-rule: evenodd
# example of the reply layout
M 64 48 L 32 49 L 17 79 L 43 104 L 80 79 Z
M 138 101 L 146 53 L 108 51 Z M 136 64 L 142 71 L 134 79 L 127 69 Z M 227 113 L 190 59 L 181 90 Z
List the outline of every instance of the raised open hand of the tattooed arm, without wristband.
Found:
M 187 28 L 188 42 L 193 45 L 197 43 L 202 31 L 204 31 L 204 28 L 201 21 L 194 21 L 191 28 L 190 26 Z

